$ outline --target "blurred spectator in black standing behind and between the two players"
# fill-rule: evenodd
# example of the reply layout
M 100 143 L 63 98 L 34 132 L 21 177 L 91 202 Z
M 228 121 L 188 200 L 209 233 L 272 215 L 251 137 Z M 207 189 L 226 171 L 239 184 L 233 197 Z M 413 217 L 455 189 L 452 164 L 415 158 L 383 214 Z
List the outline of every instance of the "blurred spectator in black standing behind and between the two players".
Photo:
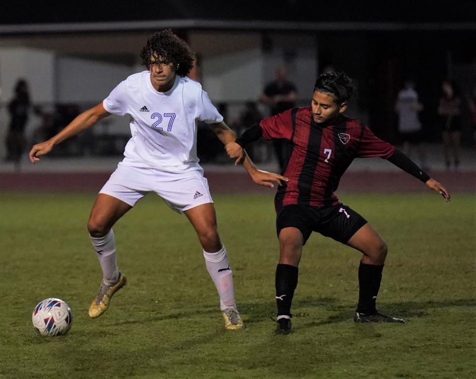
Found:
M 297 90 L 296 86 L 288 80 L 288 72 L 284 67 L 276 69 L 276 78 L 268 83 L 259 101 L 270 108 L 271 116 L 284 112 L 296 106 Z M 284 168 L 286 157 L 286 141 L 273 140 L 274 150 L 278 158 L 279 168 Z

